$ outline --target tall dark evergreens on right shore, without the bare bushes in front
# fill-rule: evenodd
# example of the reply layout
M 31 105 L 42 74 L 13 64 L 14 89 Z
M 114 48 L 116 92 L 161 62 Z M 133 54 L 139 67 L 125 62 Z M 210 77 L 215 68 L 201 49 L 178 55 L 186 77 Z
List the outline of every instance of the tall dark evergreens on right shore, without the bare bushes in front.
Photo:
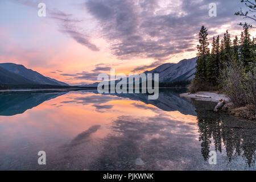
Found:
M 243 26 L 241 38 L 235 36 L 233 41 L 228 30 L 224 37 L 214 36 L 212 50 L 209 49 L 208 30 L 202 26 L 199 32 L 199 45 L 197 46 L 196 77 L 191 85 L 191 91 L 219 89 L 222 86 L 224 72 L 231 64 L 239 66 L 244 73 L 255 67 L 255 39 L 250 38 L 247 24 Z

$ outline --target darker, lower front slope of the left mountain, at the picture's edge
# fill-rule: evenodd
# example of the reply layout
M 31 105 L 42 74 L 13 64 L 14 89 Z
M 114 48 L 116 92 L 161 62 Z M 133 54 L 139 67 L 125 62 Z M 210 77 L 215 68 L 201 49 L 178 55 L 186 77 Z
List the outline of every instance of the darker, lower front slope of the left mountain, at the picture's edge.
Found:
M 0 67 L 0 84 L 35 84 L 35 82 Z

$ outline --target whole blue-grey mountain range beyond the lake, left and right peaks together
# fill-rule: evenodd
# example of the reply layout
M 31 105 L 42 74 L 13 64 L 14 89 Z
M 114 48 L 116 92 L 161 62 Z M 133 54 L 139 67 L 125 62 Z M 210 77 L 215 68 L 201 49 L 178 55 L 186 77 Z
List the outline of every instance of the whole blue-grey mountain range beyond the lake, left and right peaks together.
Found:
M 197 57 L 184 59 L 179 63 L 162 64 L 148 73 L 159 73 L 160 83 L 170 83 L 175 81 L 192 80 L 195 77 Z M 118 82 L 116 80 L 116 82 Z M 43 76 L 42 74 L 28 69 L 20 64 L 0 63 L 0 84 L 2 85 L 51 85 L 69 86 L 68 84 L 55 80 L 54 78 Z M 97 87 L 98 82 L 89 85 L 79 85 L 86 87 Z

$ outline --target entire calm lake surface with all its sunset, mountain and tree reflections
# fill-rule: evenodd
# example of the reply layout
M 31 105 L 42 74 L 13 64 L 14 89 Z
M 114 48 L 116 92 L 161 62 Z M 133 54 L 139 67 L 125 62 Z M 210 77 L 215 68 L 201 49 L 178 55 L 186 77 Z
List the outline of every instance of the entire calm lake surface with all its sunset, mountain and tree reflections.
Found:
M 0 93 L 0 169 L 255 170 L 256 123 L 213 108 L 174 90 L 158 100 L 97 90 Z

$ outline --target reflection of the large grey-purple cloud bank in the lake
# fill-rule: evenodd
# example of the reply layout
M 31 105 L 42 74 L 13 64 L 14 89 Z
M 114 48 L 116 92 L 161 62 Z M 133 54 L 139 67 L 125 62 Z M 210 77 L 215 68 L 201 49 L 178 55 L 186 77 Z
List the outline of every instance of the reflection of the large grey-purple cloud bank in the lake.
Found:
M 114 132 L 104 139 L 103 150 L 90 169 L 187 169 L 193 165 L 191 154 L 201 159 L 200 150 L 196 150 L 200 145 L 194 127 L 172 121 L 166 115 L 122 115 L 114 121 L 112 128 Z M 146 166 L 136 166 L 137 158 L 141 158 Z M 158 165 L 159 161 L 172 162 L 174 166 L 163 167 Z

